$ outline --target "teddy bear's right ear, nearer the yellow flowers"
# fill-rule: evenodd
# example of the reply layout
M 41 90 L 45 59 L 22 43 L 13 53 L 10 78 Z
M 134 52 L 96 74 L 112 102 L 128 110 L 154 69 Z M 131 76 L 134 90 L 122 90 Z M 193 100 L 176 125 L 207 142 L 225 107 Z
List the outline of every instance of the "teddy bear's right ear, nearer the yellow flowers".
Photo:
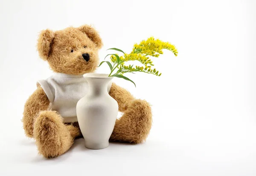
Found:
M 87 35 L 87 37 L 90 38 L 90 40 L 92 40 L 96 44 L 97 48 L 102 48 L 102 39 L 99 36 L 99 33 L 92 26 L 83 25 L 80 26 L 78 29 L 84 32 Z

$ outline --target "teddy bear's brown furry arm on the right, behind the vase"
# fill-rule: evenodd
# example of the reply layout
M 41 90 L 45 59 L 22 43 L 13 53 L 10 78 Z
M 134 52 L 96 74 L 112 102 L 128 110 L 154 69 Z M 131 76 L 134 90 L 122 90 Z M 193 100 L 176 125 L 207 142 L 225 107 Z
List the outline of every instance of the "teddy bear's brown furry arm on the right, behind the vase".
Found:
M 116 85 L 114 82 L 112 83 L 109 94 L 116 100 L 118 103 L 118 109 L 121 112 L 124 112 L 134 99 L 129 91 Z

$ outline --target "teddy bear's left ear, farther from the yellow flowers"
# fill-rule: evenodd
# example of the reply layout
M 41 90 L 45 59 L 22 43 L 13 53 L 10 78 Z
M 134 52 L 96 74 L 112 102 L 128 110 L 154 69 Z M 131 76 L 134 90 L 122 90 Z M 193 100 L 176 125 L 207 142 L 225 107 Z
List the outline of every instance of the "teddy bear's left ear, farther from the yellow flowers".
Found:
M 38 53 L 43 60 L 47 60 L 51 51 L 52 40 L 54 39 L 54 32 L 46 29 L 41 31 L 38 37 Z

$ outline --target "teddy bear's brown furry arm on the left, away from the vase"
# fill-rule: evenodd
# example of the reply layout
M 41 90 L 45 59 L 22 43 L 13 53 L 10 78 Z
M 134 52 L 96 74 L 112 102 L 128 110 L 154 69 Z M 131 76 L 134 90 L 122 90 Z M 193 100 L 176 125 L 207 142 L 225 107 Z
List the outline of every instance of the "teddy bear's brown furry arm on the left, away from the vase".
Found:
M 22 121 L 26 136 L 33 137 L 35 118 L 40 111 L 47 110 L 49 108 L 49 104 L 49 99 L 47 98 L 43 88 L 38 86 L 29 99 L 27 99 L 24 106 Z

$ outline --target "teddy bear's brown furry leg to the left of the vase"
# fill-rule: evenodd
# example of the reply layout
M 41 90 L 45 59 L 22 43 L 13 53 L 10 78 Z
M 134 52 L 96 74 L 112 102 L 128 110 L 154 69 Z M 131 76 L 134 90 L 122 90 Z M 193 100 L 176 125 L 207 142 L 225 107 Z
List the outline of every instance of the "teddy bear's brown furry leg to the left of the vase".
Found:
M 56 111 L 41 111 L 35 120 L 33 136 L 38 152 L 53 158 L 65 153 L 79 133 L 79 128 L 65 125 Z

